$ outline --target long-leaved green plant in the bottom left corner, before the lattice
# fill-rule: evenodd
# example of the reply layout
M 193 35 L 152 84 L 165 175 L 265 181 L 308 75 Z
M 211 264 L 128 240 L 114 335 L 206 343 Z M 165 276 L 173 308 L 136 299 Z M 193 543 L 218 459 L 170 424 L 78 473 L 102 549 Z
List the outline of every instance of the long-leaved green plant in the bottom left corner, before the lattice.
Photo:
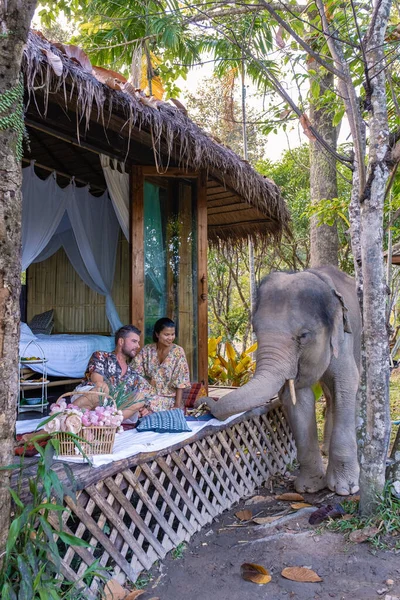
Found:
M 85 584 L 94 577 L 105 579 L 105 571 L 99 568 L 96 560 L 76 582 L 69 582 L 60 575 L 65 548 L 89 548 L 90 544 L 63 531 L 62 514 L 66 510 L 63 499 L 64 496 L 76 499 L 75 480 L 66 463 L 63 463 L 63 469 L 68 485 L 59 479 L 53 469 L 53 456 L 59 443 L 50 436 L 46 447 L 42 448 L 39 444 L 47 437 L 38 433 L 29 440 L 39 458 L 36 474 L 29 479 L 27 503 L 22 498 L 24 457 L 21 456 L 17 464 L 2 467 L 3 470 L 18 469 L 19 477 L 16 489 L 10 489 L 12 521 L 0 571 L 1 600 L 79 600 L 86 597 Z

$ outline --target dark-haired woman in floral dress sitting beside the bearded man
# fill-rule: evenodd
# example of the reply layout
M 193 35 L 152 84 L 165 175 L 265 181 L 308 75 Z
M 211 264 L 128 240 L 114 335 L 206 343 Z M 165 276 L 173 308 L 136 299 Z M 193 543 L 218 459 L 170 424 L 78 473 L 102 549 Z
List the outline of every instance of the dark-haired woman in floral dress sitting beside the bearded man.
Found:
M 174 339 L 175 323 L 167 317 L 159 319 L 153 329 L 154 343 L 144 346 L 133 362 L 134 370 L 154 389 L 154 394 L 148 394 L 152 411 L 180 408 L 183 390 L 190 386 L 185 351 Z

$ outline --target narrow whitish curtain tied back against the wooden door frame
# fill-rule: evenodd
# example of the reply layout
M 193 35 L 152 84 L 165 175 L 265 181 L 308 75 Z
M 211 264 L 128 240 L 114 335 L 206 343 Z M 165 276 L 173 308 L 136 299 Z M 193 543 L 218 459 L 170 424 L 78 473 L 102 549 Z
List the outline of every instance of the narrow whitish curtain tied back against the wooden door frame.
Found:
M 129 175 L 125 173 L 123 163 L 118 163 L 117 160 L 110 159 L 105 154 L 100 154 L 100 162 L 115 214 L 122 232 L 129 242 Z M 121 172 L 117 169 L 118 164 Z

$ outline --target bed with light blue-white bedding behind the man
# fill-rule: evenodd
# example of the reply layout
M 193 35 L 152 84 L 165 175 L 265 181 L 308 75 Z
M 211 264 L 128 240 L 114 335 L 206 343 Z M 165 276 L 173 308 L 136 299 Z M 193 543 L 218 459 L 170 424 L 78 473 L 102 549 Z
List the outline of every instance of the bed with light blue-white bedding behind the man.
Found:
M 44 356 L 47 359 L 47 374 L 54 377 L 81 378 L 93 352 L 111 352 L 114 347 L 114 336 L 68 333 L 35 335 L 26 323 L 21 323 L 20 356 Z M 43 372 L 40 364 L 29 367 L 37 373 Z

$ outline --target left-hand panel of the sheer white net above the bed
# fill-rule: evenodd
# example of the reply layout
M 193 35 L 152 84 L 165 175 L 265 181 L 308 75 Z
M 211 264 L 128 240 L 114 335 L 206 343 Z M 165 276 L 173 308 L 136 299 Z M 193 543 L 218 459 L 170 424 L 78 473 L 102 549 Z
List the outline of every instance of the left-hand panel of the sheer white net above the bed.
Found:
M 57 185 L 54 173 L 45 180 L 34 163 L 22 170 L 22 270 L 46 248 L 65 212 L 68 198 Z

